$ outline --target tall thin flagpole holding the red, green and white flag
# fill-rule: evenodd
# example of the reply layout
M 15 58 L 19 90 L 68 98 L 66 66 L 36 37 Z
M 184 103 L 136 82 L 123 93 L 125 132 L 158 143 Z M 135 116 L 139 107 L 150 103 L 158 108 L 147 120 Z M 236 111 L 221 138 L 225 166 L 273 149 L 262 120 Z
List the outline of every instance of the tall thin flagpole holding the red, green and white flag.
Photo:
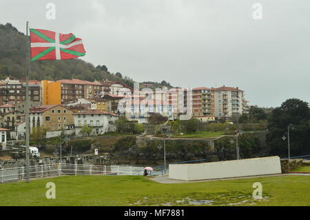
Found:
M 29 76 L 30 76 L 30 36 L 28 37 L 29 21 L 26 22 L 26 37 L 27 37 L 27 71 L 25 77 L 25 146 L 26 146 L 26 182 L 30 183 L 30 161 L 29 161 Z

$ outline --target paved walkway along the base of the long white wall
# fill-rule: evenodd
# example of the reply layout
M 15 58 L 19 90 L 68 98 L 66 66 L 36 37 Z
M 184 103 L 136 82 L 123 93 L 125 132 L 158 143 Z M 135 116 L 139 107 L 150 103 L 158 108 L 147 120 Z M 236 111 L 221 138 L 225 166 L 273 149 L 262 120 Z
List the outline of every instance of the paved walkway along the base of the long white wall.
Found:
M 251 177 L 231 177 L 231 178 L 222 178 L 222 179 L 202 179 L 194 181 L 185 181 L 179 179 L 170 179 L 168 175 L 158 176 L 150 178 L 152 181 L 158 183 L 200 183 L 200 182 L 209 182 L 209 181 L 223 181 L 223 180 L 234 180 L 234 179 L 253 179 L 261 177 L 281 177 L 281 176 L 310 176 L 310 173 L 286 173 L 286 174 L 270 174 L 270 175 L 260 175 L 260 176 L 251 176 Z

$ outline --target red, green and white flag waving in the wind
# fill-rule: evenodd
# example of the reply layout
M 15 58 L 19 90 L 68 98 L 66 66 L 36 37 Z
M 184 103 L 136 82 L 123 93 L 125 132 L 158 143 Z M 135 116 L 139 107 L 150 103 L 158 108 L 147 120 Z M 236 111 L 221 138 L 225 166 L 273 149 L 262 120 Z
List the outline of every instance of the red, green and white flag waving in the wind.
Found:
M 31 61 L 74 59 L 85 55 L 83 41 L 74 34 L 30 28 Z

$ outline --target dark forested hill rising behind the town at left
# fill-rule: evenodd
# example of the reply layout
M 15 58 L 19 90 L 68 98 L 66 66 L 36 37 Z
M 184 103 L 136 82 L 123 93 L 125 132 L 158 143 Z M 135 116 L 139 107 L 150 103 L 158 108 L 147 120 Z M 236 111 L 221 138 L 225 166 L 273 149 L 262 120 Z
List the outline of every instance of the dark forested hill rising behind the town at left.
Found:
M 26 69 L 26 46 L 25 34 L 19 32 L 12 24 L 0 24 L 0 78 L 25 77 Z M 133 86 L 134 81 L 123 77 L 121 73 L 110 73 L 105 65 L 97 66 L 81 59 L 63 61 L 34 61 L 31 63 L 30 79 L 83 79 L 88 81 L 109 79 L 122 81 L 128 86 Z

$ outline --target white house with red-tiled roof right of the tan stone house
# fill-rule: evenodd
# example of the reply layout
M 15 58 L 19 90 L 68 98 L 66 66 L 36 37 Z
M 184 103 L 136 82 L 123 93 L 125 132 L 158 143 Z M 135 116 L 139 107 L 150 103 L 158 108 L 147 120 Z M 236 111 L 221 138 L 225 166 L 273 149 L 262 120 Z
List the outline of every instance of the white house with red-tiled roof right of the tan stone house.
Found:
M 73 115 L 76 136 L 83 135 L 83 126 L 92 128 L 91 135 L 116 131 L 115 121 L 118 119 L 117 114 L 101 110 L 85 110 L 83 112 L 76 112 Z

